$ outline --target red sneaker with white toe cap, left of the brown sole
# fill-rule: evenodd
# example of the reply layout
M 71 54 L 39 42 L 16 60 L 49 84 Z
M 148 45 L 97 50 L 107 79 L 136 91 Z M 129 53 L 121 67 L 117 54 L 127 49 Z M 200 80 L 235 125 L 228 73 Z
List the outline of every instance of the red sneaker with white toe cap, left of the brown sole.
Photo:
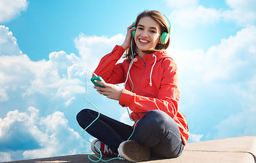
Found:
M 91 144 L 91 150 L 99 157 L 101 156 L 101 154 L 102 156 L 108 156 L 113 158 L 116 158 L 118 156 L 118 153 L 114 153 L 110 149 L 110 147 L 108 147 L 108 145 L 102 143 L 101 141 L 99 141 L 99 139 L 95 139 L 91 143 L 93 144 Z M 97 149 L 97 147 L 100 149 L 101 153 L 99 152 L 99 149 Z

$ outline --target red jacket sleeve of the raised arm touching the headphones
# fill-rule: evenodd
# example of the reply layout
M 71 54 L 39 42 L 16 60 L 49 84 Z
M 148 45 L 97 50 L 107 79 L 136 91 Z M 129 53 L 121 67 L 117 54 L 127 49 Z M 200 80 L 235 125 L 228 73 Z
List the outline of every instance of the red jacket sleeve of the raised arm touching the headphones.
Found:
M 116 64 L 124 52 L 125 50 L 121 46 L 115 46 L 110 54 L 101 58 L 94 73 L 101 76 L 106 83 L 120 84 L 124 82 L 123 63 Z

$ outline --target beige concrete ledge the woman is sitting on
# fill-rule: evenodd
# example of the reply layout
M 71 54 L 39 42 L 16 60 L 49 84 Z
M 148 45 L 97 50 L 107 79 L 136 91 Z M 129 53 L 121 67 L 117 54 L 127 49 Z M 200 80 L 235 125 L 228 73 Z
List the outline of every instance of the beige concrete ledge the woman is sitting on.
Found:
M 60 156 L 53 158 L 39 158 L 33 160 L 21 160 L 9 163 L 86 163 L 92 162 L 88 159 L 89 154 L 78 154 L 71 156 Z M 151 159 L 146 162 L 170 162 L 170 163 L 256 163 L 256 137 L 235 137 L 228 139 L 218 139 L 213 141 L 202 141 L 188 143 L 185 151 L 179 158 L 174 159 Z M 103 158 L 107 160 L 107 158 Z M 128 162 L 126 160 L 112 160 L 110 162 Z

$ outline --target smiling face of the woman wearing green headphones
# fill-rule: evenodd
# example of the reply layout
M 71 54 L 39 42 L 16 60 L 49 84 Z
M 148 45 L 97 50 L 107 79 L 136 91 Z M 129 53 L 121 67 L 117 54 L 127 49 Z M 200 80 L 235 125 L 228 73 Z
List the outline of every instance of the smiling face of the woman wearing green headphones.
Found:
M 153 18 L 149 16 L 141 18 L 134 39 L 139 54 L 143 53 L 142 51 L 154 50 L 160 41 L 160 34 L 160 26 Z

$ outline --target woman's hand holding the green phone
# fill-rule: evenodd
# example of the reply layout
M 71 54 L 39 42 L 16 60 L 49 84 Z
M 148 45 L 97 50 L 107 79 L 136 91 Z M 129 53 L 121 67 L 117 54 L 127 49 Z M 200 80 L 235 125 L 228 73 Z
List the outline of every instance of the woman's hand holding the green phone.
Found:
M 97 84 L 100 84 L 101 86 L 105 86 L 105 88 L 101 88 L 101 87 L 98 87 L 98 86 L 93 87 L 97 90 L 97 92 L 99 92 L 99 94 L 104 94 L 108 98 L 119 101 L 120 96 L 121 96 L 122 91 L 123 91 L 123 88 L 121 88 L 121 86 L 117 86 L 117 85 L 114 85 L 114 84 L 107 84 L 105 82 L 100 82 L 98 80 L 95 80 L 95 82 Z

